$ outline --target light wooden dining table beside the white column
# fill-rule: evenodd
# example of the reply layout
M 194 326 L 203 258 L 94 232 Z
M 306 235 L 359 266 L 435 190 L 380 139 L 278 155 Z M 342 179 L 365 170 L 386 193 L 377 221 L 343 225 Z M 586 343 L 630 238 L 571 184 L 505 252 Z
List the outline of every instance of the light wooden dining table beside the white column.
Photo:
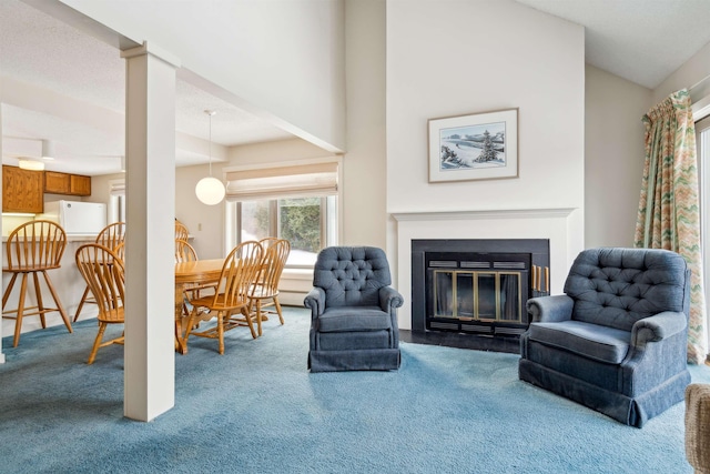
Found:
M 184 340 L 184 324 L 182 304 L 185 288 L 189 284 L 217 283 L 224 266 L 224 259 L 195 260 L 175 263 L 175 350 L 181 354 L 187 353 L 187 342 Z

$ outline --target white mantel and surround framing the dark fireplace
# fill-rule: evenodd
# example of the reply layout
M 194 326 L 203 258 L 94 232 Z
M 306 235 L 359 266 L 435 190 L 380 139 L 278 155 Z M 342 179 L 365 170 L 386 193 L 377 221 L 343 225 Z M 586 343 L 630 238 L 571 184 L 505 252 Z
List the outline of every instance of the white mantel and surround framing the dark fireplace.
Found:
M 397 289 L 405 303 L 399 327 L 412 329 L 412 241 L 418 239 L 548 239 L 550 290 L 562 290 L 584 248 L 584 214 L 577 208 L 392 212 L 397 221 Z

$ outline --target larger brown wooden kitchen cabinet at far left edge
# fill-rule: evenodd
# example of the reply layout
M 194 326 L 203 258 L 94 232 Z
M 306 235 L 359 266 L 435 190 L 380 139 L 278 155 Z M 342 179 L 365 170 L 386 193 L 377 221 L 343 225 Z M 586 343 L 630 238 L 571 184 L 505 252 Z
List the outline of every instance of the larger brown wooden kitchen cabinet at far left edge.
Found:
M 2 212 L 44 212 L 44 174 L 2 165 Z

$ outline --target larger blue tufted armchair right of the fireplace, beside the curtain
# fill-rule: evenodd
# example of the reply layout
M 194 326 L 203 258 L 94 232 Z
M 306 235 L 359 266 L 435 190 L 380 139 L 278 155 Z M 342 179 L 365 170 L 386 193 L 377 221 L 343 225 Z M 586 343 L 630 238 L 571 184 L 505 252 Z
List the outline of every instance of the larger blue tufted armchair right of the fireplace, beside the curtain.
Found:
M 565 294 L 528 300 L 520 380 L 641 427 L 681 402 L 690 382 L 689 288 L 674 252 L 582 251 Z

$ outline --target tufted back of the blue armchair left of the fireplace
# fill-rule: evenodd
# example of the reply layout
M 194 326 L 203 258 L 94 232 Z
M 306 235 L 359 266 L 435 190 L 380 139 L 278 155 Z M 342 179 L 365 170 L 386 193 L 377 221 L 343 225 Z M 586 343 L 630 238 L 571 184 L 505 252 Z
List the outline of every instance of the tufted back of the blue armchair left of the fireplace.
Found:
M 313 285 L 325 305 L 379 306 L 379 289 L 392 284 L 387 255 L 374 246 L 328 246 L 318 253 Z

